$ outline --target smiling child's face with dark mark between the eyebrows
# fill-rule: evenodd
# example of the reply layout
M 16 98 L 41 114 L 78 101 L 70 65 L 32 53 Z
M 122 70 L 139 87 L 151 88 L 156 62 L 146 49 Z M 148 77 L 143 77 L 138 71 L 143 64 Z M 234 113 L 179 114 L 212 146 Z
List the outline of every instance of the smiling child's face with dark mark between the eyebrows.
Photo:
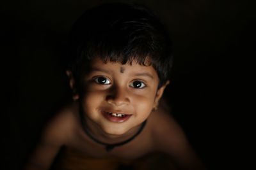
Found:
M 157 106 L 165 86 L 152 66 L 122 65 L 95 59 L 79 99 L 86 118 L 107 134 L 125 134 L 138 127 Z M 122 115 L 121 115 L 122 114 Z

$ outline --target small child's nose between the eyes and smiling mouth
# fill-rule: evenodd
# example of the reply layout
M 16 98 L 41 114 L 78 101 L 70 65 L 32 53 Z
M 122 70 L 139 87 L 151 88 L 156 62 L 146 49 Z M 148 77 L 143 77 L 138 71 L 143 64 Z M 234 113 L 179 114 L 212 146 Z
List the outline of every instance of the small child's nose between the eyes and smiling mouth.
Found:
M 130 97 L 127 89 L 113 86 L 106 97 L 106 101 L 114 106 L 122 106 L 130 103 L 129 98 Z

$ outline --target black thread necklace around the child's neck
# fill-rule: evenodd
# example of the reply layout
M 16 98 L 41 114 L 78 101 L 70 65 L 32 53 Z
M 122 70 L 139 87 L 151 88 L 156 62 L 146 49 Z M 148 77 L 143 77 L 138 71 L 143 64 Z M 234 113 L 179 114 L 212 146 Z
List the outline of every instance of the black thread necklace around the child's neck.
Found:
M 81 110 L 81 105 L 79 107 L 79 115 L 80 115 L 80 118 L 81 118 L 81 123 L 82 123 L 82 126 L 83 126 L 83 130 L 84 132 L 86 133 L 86 135 L 91 138 L 93 141 L 95 141 L 96 143 L 99 143 L 101 145 L 104 145 L 105 148 L 106 148 L 106 151 L 109 152 L 111 150 L 113 150 L 113 148 L 115 148 L 116 146 L 121 146 L 121 145 L 125 145 L 126 143 L 129 143 L 130 141 L 132 141 L 134 138 L 136 138 L 136 136 L 138 136 L 140 134 L 140 132 L 144 129 L 146 123 L 147 123 L 147 120 L 145 120 L 142 124 L 141 124 L 141 127 L 139 129 L 138 132 L 136 132 L 136 134 L 134 134 L 131 138 L 125 140 L 125 141 L 122 141 L 122 142 L 119 142 L 119 143 L 113 143 L 113 144 L 109 144 L 109 143 L 104 143 L 102 141 L 99 141 L 99 139 L 96 139 L 94 136 L 92 136 L 92 134 L 90 134 L 90 132 L 88 131 L 88 129 L 86 128 L 86 122 L 85 122 L 85 119 L 84 119 L 84 115 L 83 115 L 83 111 Z

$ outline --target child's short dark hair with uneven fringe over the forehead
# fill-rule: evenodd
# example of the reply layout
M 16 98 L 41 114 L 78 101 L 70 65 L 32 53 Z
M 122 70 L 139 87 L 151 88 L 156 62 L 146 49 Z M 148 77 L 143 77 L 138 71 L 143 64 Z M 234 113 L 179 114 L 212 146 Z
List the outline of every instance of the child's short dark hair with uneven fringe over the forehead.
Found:
M 68 69 L 77 80 L 94 57 L 103 62 L 152 65 L 159 87 L 170 76 L 172 43 L 168 31 L 141 5 L 111 3 L 85 11 L 72 27 L 69 45 L 72 60 Z

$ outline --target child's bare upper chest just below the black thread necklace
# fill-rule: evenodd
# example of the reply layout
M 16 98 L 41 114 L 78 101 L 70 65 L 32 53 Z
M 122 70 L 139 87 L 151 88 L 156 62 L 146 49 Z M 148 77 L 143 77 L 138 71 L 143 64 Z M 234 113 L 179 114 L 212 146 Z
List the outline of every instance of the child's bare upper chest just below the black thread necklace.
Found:
M 152 139 L 150 130 L 145 127 L 134 139 L 123 145 L 103 145 L 93 141 L 81 129 L 77 129 L 65 144 L 65 155 L 74 154 L 83 157 L 106 158 L 116 157 L 118 159 L 137 159 L 152 151 Z M 111 145 L 110 145 L 111 146 Z

